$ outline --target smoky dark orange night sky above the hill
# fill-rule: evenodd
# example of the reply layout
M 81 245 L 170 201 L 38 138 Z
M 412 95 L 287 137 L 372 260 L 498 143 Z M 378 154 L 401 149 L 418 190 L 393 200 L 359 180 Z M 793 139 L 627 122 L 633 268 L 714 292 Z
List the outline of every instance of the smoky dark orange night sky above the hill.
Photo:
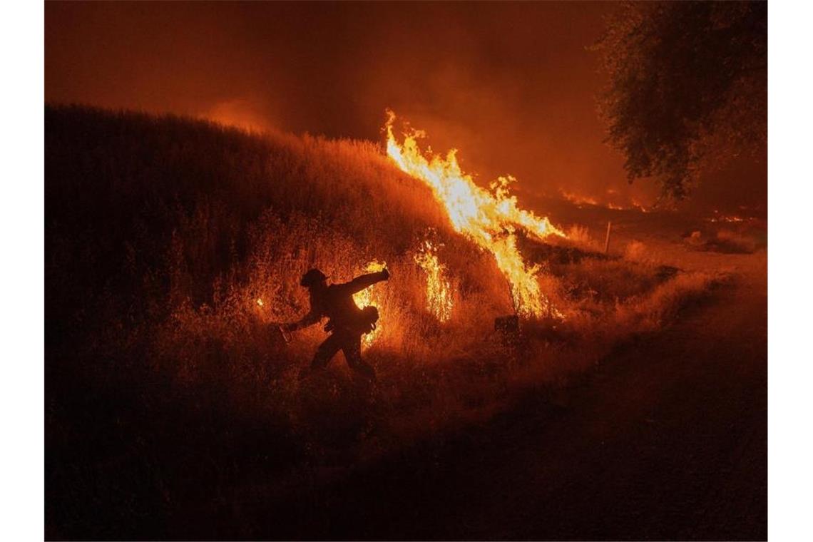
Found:
M 385 108 L 457 147 L 480 180 L 650 202 L 602 143 L 597 54 L 611 2 L 46 2 L 46 101 L 205 116 L 381 141 Z M 695 205 L 767 199 L 764 164 L 705 180 Z

